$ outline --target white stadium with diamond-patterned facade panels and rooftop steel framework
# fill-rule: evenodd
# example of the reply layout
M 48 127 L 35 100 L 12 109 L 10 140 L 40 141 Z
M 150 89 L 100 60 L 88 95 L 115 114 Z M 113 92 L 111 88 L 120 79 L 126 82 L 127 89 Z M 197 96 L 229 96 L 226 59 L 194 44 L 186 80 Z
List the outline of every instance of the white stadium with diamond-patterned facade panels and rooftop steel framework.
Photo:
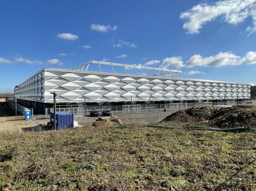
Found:
M 99 71 L 89 71 L 95 65 Z M 110 66 L 103 72 L 102 66 Z M 121 67 L 123 73 L 118 73 Z M 117 69 L 118 70 L 117 70 Z M 131 69 L 133 73 L 131 74 Z M 141 73 L 143 71 L 143 73 Z M 140 74 L 139 74 L 140 73 Z M 120 63 L 89 61 L 72 69 L 44 68 L 15 88 L 22 100 L 58 103 L 250 99 L 250 85 L 183 79 L 181 71 Z M 176 76 L 176 77 L 175 77 Z

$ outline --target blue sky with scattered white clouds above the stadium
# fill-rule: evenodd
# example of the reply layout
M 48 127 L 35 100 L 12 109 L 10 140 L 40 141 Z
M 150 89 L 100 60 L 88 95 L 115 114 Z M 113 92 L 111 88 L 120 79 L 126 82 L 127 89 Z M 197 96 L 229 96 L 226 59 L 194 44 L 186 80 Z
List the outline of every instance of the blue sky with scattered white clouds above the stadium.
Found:
M 8 0 L 0 26 L 0 91 L 89 60 L 256 83 L 256 0 Z

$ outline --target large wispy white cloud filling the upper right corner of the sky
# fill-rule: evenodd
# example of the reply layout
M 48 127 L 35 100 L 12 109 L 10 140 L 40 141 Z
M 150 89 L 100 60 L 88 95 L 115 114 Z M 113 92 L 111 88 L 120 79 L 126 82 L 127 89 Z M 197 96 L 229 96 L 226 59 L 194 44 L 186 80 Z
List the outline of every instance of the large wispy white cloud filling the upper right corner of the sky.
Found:
M 251 34 L 256 31 L 256 0 L 221 0 L 213 5 L 201 3 L 180 14 L 180 18 L 186 20 L 183 29 L 188 33 L 199 33 L 204 24 L 217 17 L 233 25 L 252 17 L 253 24 L 247 28 Z

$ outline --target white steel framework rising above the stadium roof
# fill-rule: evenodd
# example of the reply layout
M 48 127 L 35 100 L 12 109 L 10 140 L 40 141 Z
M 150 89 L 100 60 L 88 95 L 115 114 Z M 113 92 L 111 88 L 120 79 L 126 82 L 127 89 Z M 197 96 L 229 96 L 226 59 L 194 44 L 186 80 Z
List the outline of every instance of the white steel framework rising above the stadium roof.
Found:
M 116 73 L 114 70 L 113 66 L 121 66 L 123 67 L 124 70 L 124 74 L 126 73 L 126 68 L 133 68 L 134 69 L 134 73 L 138 76 L 139 74 L 137 73 L 137 69 L 144 69 L 145 74 L 144 76 L 156 76 L 156 77 L 169 77 L 169 78 L 174 78 L 174 74 L 177 74 L 177 78 L 181 78 L 180 77 L 180 70 L 171 70 L 171 69 L 164 69 L 164 68 L 153 68 L 153 67 L 147 67 L 147 66 L 138 66 L 138 65 L 129 65 L 129 64 L 120 64 L 120 63 L 109 63 L 109 62 L 102 62 L 102 61 L 89 61 L 87 63 L 81 64 L 79 66 L 76 66 L 75 68 L 72 68 L 71 70 L 76 70 L 76 71 L 87 71 L 90 64 L 97 64 L 99 66 L 99 72 L 102 73 L 102 68 L 101 65 L 110 65 L 112 68 L 112 73 L 113 74 L 122 74 L 122 73 Z M 85 67 L 85 70 L 84 70 Z M 146 70 L 153 70 L 154 71 L 154 75 L 150 75 L 148 74 L 148 72 Z M 157 71 L 161 71 L 161 73 L 157 73 Z M 140 74 L 140 76 L 143 74 Z

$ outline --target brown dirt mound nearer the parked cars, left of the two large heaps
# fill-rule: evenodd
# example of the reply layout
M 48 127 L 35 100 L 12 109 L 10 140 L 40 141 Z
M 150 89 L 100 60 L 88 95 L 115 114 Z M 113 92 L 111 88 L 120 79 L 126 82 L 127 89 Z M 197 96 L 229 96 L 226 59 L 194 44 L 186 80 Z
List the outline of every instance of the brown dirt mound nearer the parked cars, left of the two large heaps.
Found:
M 163 122 L 179 122 L 179 123 L 190 123 L 195 121 L 209 120 L 212 115 L 217 112 L 218 109 L 215 107 L 202 107 L 202 108 L 189 108 L 182 111 L 177 111 L 165 119 Z

